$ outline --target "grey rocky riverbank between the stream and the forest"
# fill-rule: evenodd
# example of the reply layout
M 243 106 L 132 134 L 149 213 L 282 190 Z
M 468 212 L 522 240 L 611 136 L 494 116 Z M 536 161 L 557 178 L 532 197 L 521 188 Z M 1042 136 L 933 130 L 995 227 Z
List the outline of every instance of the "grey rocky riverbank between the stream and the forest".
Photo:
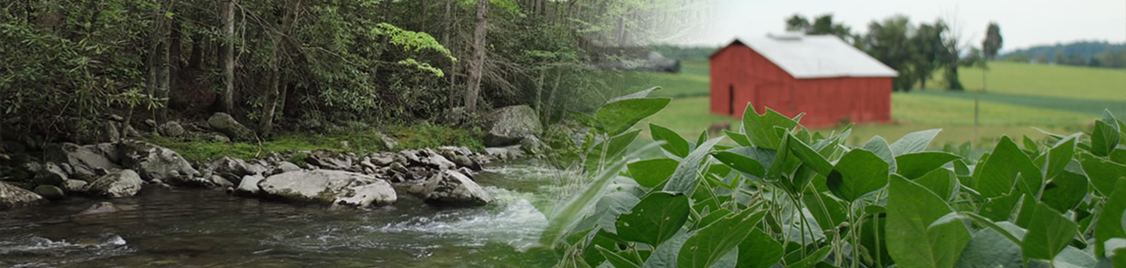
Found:
M 0 209 L 73 196 L 129 197 L 149 187 L 215 188 L 248 198 L 347 207 L 393 205 L 403 195 L 434 205 L 480 206 L 492 200 L 473 179 L 483 164 L 544 149 L 534 113 L 527 107 L 494 111 L 483 137 L 494 148 L 484 152 L 457 146 L 364 154 L 318 150 L 193 164 L 173 150 L 140 140 L 50 144 L 42 161 L 17 167 L 29 177 L 21 185 L 0 180 Z M 216 114 L 208 123 L 217 135 L 247 139 L 248 129 L 230 116 Z M 155 131 L 182 133 L 177 126 Z

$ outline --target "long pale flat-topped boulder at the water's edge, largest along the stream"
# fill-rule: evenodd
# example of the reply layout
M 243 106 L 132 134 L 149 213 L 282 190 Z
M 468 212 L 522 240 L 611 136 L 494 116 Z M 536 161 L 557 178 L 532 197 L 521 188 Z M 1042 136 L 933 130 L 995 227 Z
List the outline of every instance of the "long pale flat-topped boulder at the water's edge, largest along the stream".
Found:
M 356 207 L 391 205 L 397 199 L 387 181 L 340 170 L 285 172 L 262 179 L 258 188 L 265 195 L 292 202 Z

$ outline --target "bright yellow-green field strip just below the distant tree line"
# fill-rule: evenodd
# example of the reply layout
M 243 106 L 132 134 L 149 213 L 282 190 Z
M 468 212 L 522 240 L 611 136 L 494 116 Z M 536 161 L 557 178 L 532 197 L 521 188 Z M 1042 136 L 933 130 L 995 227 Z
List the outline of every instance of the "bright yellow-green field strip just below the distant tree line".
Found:
M 1047 97 L 1126 100 L 1126 70 L 990 62 L 989 92 Z M 982 69 L 958 69 L 966 90 L 982 89 Z M 941 78 L 936 78 L 940 81 Z

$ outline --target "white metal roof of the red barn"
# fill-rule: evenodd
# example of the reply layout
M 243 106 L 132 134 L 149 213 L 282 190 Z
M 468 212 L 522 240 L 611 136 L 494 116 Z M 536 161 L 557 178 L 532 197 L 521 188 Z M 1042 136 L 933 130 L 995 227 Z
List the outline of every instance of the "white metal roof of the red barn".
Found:
M 768 35 L 736 39 L 796 79 L 899 77 L 875 57 L 832 35 Z

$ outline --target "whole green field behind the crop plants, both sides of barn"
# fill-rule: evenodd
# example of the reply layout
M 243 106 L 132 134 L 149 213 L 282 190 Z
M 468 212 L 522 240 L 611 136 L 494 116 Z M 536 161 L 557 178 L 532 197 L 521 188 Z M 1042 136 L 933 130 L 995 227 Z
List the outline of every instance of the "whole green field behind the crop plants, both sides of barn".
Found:
M 636 74 L 634 81 L 627 79 L 629 83 L 644 84 L 637 88 L 662 86 L 663 90 L 653 95 L 673 98 L 668 108 L 640 124 L 646 128 L 643 136 L 649 135 L 650 123 L 669 127 L 692 140 L 716 122 L 731 122 L 732 128 L 738 128 L 739 119 L 708 113 L 707 63 L 686 62 L 682 66 L 685 72 L 680 74 L 645 73 Z M 975 86 L 981 87 L 980 70 L 976 73 L 965 70 L 959 74 L 971 90 Z M 975 74 L 976 84 L 972 82 Z M 1124 70 L 992 63 L 989 75 L 990 91 L 981 96 L 976 140 L 974 93 L 929 89 L 893 93 L 892 117 L 895 123 L 855 126 L 849 143 L 860 145 L 875 135 L 895 141 L 911 132 L 942 128 L 931 146 L 974 141 L 976 148 L 991 148 L 1002 135 L 1044 139 L 1046 135 L 1036 128 L 1058 134 L 1082 132 L 1100 116 L 1103 108 L 1118 117 L 1126 116 L 1126 98 L 1110 97 L 1126 96 Z M 1074 77 L 1084 79 L 1075 80 Z M 1039 82 L 1022 81 L 1028 79 Z M 828 133 L 840 129 L 815 131 Z

